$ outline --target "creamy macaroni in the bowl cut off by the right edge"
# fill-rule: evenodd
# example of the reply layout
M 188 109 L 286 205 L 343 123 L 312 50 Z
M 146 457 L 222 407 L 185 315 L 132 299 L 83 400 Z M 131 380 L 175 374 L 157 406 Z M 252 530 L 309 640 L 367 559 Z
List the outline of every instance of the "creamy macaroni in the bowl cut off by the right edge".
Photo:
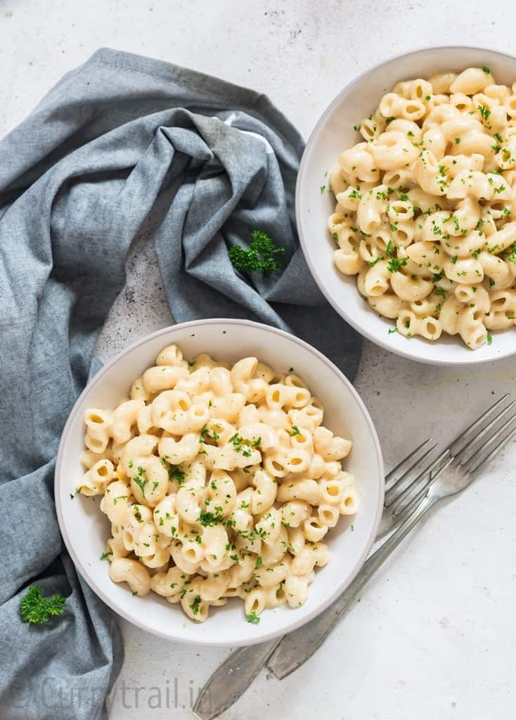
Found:
M 335 266 L 402 335 L 469 348 L 516 320 L 516 83 L 399 82 L 330 174 Z M 389 330 L 392 332 L 392 330 Z

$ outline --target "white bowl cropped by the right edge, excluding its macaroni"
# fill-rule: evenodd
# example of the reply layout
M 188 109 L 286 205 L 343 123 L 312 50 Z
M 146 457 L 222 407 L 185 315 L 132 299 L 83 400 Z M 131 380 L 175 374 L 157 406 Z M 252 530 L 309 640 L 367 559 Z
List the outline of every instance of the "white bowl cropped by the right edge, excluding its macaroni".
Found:
M 516 353 L 516 333 L 492 333 L 492 345 L 470 350 L 458 336 L 431 342 L 389 334 L 395 327 L 371 310 L 359 294 L 355 276 L 343 276 L 333 264 L 335 245 L 327 231 L 327 220 L 335 199 L 320 192 L 327 184 L 325 173 L 340 153 L 358 142 L 353 126 L 374 112 L 381 96 L 394 85 L 411 78 L 429 78 L 445 70 L 462 71 L 486 66 L 497 82 L 516 81 L 516 58 L 481 48 L 428 48 L 400 55 L 376 66 L 349 84 L 333 100 L 315 126 L 304 150 L 297 176 L 296 217 L 299 238 L 315 281 L 330 304 L 353 328 L 377 345 L 394 353 L 435 365 L 467 365 L 491 362 Z

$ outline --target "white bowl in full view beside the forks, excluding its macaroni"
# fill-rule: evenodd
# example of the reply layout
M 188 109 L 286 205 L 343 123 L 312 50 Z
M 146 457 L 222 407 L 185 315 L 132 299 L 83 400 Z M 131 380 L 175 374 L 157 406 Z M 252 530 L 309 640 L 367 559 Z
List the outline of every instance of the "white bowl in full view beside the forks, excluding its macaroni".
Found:
M 109 537 L 109 521 L 99 501 L 70 495 L 80 485 L 83 469 L 83 413 L 86 408 L 114 408 L 127 397 L 130 385 L 152 366 L 161 348 L 177 343 L 186 358 L 208 352 L 215 359 L 236 361 L 257 356 L 274 369 L 293 366 L 314 395 L 325 404 L 325 424 L 353 439 L 345 468 L 356 476 L 360 508 L 352 518 L 342 517 L 328 536 L 330 563 L 317 570 L 307 602 L 296 610 L 286 606 L 265 611 L 258 625 L 245 621 L 243 603 L 230 600 L 212 608 L 206 622 L 196 624 L 179 606 L 150 593 L 133 597 L 125 584 L 109 579 L 109 564 L 101 561 Z M 246 645 L 283 634 L 306 623 L 342 593 L 367 557 L 376 536 L 384 495 L 381 450 L 371 418 L 356 390 L 343 374 L 298 338 L 281 330 L 246 320 L 198 320 L 153 333 L 127 348 L 97 374 L 78 397 L 65 425 L 55 470 L 55 504 L 68 552 L 78 572 L 114 611 L 137 626 L 179 642 Z M 353 530 L 350 525 L 353 523 Z

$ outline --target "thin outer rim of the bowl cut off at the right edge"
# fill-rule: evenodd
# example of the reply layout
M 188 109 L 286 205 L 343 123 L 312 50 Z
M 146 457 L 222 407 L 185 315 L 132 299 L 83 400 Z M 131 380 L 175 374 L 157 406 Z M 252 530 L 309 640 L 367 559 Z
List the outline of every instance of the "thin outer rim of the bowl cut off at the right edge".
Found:
M 447 359 L 447 360 L 439 360 L 439 359 L 430 359 L 423 357 L 419 354 L 417 354 L 414 351 L 411 351 L 409 348 L 404 349 L 402 347 L 397 347 L 389 344 L 385 338 L 381 338 L 377 336 L 375 333 L 368 330 L 368 328 L 364 328 L 361 323 L 356 322 L 356 320 L 353 318 L 352 315 L 348 315 L 347 312 L 343 309 L 342 305 L 340 305 L 337 300 L 335 300 L 334 297 L 332 297 L 332 294 L 328 291 L 325 283 L 323 282 L 322 276 L 319 274 L 319 271 L 317 270 L 317 264 L 312 262 L 312 258 L 309 255 L 309 243 L 307 243 L 306 238 L 304 237 L 303 233 L 303 223 L 302 223 L 302 215 L 301 215 L 301 186 L 302 181 L 304 177 L 304 172 L 307 165 L 307 158 L 309 155 L 309 151 L 312 150 L 312 145 L 315 142 L 316 135 L 320 131 L 322 125 L 325 124 L 325 121 L 327 120 L 327 117 L 330 115 L 330 113 L 333 111 L 336 105 L 340 103 L 340 100 L 342 99 L 345 94 L 348 94 L 350 89 L 361 83 L 364 78 L 366 78 L 369 75 L 372 75 L 376 71 L 378 71 L 383 66 L 387 65 L 388 63 L 391 63 L 394 60 L 401 60 L 402 58 L 409 58 L 413 55 L 420 55 L 421 53 L 427 53 L 430 50 L 478 50 L 481 53 L 494 53 L 495 55 L 500 55 L 504 58 L 510 58 L 510 60 L 514 60 L 516 62 L 516 55 L 510 55 L 510 53 L 503 53 L 500 50 L 494 50 L 494 48 L 488 48 L 488 47 L 479 47 L 476 45 L 427 45 L 422 48 L 415 48 L 415 50 L 409 50 L 407 53 L 399 53 L 397 55 L 390 55 L 386 60 L 382 60 L 379 63 L 376 63 L 374 66 L 366 68 L 363 72 L 361 72 L 359 75 L 357 75 L 353 80 L 351 80 L 347 85 L 343 87 L 342 90 L 338 92 L 330 102 L 330 104 L 327 105 L 324 112 L 322 112 L 319 120 L 317 120 L 316 124 L 314 125 L 312 132 L 310 132 L 307 144 L 304 147 L 303 155 L 301 158 L 301 162 L 299 163 L 299 171 L 297 173 L 297 181 L 296 181 L 296 193 L 295 193 L 295 206 L 296 206 L 296 225 L 297 225 L 297 233 L 299 235 L 299 242 L 301 243 L 301 248 L 304 255 L 304 260 L 306 261 L 309 271 L 312 274 L 312 277 L 314 278 L 315 282 L 317 283 L 317 286 L 319 287 L 322 294 L 325 296 L 327 302 L 330 303 L 330 305 L 333 307 L 333 309 L 338 312 L 341 318 L 345 320 L 346 323 L 351 325 L 352 328 L 354 328 L 358 333 L 360 333 L 364 338 L 371 341 L 371 343 L 374 343 L 377 346 L 380 346 L 381 348 L 384 348 L 384 350 L 387 350 L 391 353 L 394 353 L 395 355 L 402 356 L 404 358 L 407 358 L 409 360 L 413 360 L 416 362 L 421 362 L 429 365 L 438 365 L 438 366 L 444 366 L 444 367 L 464 367 L 464 366 L 471 366 L 471 365 L 483 365 L 486 363 L 491 363 L 498 360 L 507 359 L 513 355 L 516 354 L 516 343 L 515 348 L 513 350 L 507 350 L 497 353 L 496 355 L 492 357 L 475 357 L 474 351 L 471 351 L 471 358 L 466 359 Z M 358 291 L 357 291 L 358 292 Z M 372 312 L 372 311 L 371 311 Z M 408 338 L 407 338 L 408 339 Z M 409 342 L 407 343 L 407 346 L 409 346 Z

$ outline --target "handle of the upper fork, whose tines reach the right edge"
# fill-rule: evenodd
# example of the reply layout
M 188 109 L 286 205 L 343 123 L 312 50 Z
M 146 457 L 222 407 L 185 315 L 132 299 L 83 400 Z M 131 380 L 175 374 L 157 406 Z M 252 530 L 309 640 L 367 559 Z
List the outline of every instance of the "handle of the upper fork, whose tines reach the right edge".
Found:
M 267 662 L 268 669 L 276 675 L 276 678 L 280 680 L 285 678 L 286 675 L 301 667 L 309 657 L 312 657 L 314 652 L 325 642 L 327 636 L 348 610 L 371 575 L 378 570 L 394 548 L 399 545 L 434 503 L 434 498 L 423 498 L 414 513 L 366 560 L 355 580 L 348 585 L 343 594 L 327 610 L 320 613 L 309 623 L 284 636 Z

